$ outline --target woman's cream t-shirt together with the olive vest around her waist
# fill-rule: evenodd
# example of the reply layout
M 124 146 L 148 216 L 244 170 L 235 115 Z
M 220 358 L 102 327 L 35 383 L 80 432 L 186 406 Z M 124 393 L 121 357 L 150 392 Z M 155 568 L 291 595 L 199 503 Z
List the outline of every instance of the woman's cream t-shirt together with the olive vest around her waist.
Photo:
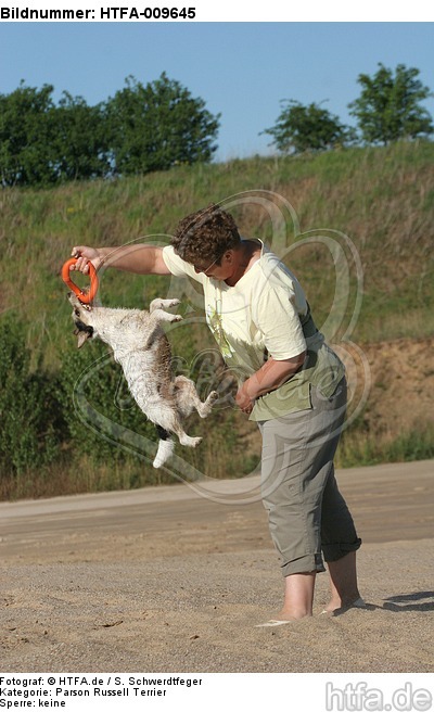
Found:
M 260 244 L 259 259 L 233 287 L 196 274 L 171 246 L 163 249 L 173 275 L 191 277 L 202 284 L 207 323 L 239 383 L 259 370 L 268 355 L 284 360 L 307 349 L 305 363 L 294 376 L 256 399 L 250 416 L 256 421 L 311 408 L 311 386 L 330 398 L 345 374 L 344 365 L 316 329 L 297 279 Z

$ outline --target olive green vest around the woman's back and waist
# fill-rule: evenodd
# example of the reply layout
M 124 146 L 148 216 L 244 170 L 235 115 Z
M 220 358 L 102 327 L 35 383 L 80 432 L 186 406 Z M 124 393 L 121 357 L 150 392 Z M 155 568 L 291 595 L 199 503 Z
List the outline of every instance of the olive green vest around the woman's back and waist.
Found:
M 326 398 L 330 398 L 345 376 L 343 363 L 326 344 L 322 333 L 315 326 L 309 305 L 301 321 L 307 346 L 304 365 L 280 387 L 259 396 L 248 420 L 271 420 L 297 410 L 309 410 L 311 385 L 317 386 Z

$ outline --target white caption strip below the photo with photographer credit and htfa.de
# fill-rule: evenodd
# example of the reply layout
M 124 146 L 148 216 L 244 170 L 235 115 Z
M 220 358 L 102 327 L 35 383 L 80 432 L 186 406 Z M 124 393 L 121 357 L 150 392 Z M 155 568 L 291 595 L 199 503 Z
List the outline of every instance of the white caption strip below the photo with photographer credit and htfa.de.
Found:
M 176 673 L 0 673 L 0 708 L 58 708 L 67 712 L 188 709 L 189 712 L 268 709 L 290 695 L 295 709 L 433 710 L 429 674 L 176 674 Z M 264 705 L 264 707 L 263 707 Z

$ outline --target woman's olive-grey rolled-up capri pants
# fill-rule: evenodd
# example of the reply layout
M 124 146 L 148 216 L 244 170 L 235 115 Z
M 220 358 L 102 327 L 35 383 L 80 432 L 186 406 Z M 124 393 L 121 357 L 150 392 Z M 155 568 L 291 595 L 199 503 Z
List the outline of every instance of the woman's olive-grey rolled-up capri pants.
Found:
M 346 381 L 331 398 L 311 386 L 311 409 L 258 423 L 261 495 L 284 576 L 324 571 L 359 548 L 334 476 L 333 457 L 346 411 Z

